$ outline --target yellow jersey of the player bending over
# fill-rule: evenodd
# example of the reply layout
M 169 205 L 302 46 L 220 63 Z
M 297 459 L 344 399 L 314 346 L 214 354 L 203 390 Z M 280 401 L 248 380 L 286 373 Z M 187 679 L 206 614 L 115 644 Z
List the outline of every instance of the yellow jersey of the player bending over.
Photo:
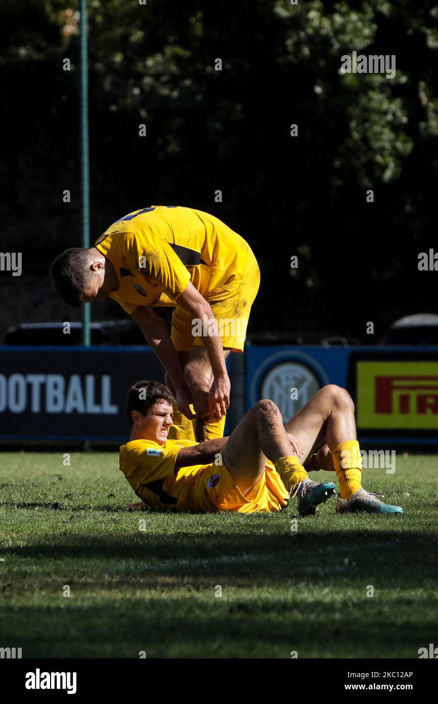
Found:
M 253 258 L 243 237 L 224 222 L 181 206 L 124 215 L 95 246 L 119 277 L 120 287 L 109 297 L 127 313 L 137 306 L 176 306 L 188 282 L 210 305 L 219 302 L 240 290 L 248 253 Z

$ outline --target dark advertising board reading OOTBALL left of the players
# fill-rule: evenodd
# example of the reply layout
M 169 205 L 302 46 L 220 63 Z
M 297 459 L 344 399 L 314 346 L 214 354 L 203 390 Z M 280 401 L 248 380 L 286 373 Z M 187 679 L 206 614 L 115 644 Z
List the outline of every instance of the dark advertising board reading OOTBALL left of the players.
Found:
M 163 377 L 148 347 L 0 347 L 0 441 L 126 441 L 129 386 Z

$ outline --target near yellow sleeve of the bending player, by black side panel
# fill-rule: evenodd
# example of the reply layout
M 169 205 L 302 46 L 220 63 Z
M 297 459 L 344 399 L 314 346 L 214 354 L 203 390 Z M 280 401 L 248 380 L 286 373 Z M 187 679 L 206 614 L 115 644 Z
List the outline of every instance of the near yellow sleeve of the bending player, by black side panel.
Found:
M 139 270 L 143 276 L 158 284 L 175 301 L 186 289 L 191 275 L 172 246 L 165 239 L 143 234 L 136 235 L 135 244 Z

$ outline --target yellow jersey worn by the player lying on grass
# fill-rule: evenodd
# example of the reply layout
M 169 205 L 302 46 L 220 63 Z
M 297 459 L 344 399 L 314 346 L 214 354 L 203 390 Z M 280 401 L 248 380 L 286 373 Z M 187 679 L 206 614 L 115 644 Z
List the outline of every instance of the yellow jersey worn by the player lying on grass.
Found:
M 120 470 L 132 489 L 150 508 L 187 510 L 193 508 L 195 477 L 212 465 L 182 467 L 175 475 L 175 460 L 181 447 L 198 445 L 193 440 L 131 440 L 120 448 Z

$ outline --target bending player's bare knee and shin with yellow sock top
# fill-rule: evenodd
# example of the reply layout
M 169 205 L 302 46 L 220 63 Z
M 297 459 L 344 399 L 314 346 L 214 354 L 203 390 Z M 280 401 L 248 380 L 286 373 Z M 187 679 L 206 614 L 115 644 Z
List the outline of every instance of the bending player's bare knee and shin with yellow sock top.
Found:
M 224 348 L 224 358 L 230 353 Z M 225 417 L 212 417 L 208 395 L 213 383 L 213 370 L 205 347 L 193 346 L 184 367 L 184 377 L 191 390 L 196 418 L 193 420 L 195 439 L 204 442 L 224 436 Z

